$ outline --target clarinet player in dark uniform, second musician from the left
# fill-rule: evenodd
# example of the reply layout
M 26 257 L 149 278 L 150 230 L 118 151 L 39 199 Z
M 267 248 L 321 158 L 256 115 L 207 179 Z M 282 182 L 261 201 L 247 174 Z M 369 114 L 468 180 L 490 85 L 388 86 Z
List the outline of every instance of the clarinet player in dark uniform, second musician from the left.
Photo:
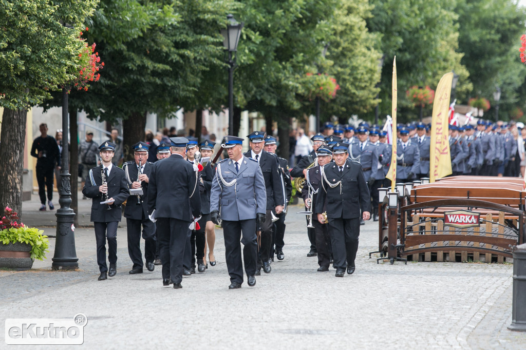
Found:
M 146 269 L 154 271 L 155 251 L 155 223 L 148 218 L 148 181 L 153 163 L 147 161 L 148 148 L 146 142 L 137 142 L 131 148 L 134 150 L 133 161 L 125 162 L 123 170 L 129 189 L 143 189 L 141 195 L 130 195 L 124 209 L 126 228 L 128 230 L 128 254 L 133 267 L 130 274 L 143 273 L 143 256 L 140 252 L 140 227 L 143 227 L 144 258 Z M 140 168 L 139 168 L 140 167 Z

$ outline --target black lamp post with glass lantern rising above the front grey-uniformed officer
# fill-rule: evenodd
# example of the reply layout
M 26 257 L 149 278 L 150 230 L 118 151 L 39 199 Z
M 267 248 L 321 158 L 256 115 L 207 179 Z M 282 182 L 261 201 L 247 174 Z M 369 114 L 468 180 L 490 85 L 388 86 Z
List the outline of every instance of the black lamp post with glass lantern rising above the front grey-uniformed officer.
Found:
M 221 30 L 224 38 L 223 47 L 228 53 L 228 135 L 234 136 L 234 69 L 236 69 L 236 52 L 243 23 L 238 23 L 234 16 L 227 15 L 227 28 Z

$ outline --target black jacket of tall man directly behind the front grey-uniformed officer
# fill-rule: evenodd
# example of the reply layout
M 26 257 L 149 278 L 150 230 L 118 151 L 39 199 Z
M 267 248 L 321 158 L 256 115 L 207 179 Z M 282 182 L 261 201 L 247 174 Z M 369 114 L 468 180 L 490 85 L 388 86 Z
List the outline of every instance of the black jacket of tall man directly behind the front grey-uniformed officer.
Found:
M 244 156 L 250 158 L 252 156 L 251 151 L 246 152 Z M 263 173 L 265 188 L 267 189 L 267 210 L 275 210 L 277 205 L 285 205 L 277 157 L 266 151 L 261 151 L 259 167 Z

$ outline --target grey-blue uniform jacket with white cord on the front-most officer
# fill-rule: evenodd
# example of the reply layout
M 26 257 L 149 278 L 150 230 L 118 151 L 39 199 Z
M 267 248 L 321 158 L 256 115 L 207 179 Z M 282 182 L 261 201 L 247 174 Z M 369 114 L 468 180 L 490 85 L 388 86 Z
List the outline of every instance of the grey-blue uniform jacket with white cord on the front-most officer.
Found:
M 239 172 L 231 159 L 217 164 L 210 192 L 210 211 L 214 210 L 227 221 L 255 219 L 256 213 L 267 212 L 265 179 L 256 160 L 243 157 Z

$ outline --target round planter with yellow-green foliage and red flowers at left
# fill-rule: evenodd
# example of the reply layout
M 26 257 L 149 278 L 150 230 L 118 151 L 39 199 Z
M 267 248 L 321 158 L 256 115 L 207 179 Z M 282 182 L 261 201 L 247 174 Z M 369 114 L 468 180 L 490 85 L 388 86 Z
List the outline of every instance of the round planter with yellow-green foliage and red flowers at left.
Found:
M 35 259 L 43 260 L 49 245 L 43 232 L 19 222 L 18 214 L 6 207 L 0 222 L 0 268 L 31 269 Z

